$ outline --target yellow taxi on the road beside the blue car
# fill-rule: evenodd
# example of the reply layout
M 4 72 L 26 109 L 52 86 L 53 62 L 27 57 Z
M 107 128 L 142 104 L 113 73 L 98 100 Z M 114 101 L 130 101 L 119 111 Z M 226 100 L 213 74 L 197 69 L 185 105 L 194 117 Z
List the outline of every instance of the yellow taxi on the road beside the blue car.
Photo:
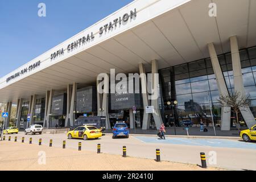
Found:
M 95 126 L 84 125 L 79 126 L 75 130 L 68 131 L 68 139 L 72 138 L 82 138 L 84 140 L 90 138 L 99 138 L 102 136 L 101 129 L 97 129 Z

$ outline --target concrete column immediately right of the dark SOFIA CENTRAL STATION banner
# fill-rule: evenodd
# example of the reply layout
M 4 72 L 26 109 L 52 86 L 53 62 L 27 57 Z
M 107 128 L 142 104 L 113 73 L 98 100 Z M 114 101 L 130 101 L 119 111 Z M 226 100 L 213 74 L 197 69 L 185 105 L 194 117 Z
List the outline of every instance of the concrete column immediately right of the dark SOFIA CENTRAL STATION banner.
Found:
M 139 64 L 139 73 L 141 77 L 142 88 L 142 101 L 143 101 L 143 120 L 142 130 L 147 130 L 150 127 L 150 115 L 146 113 L 146 106 L 149 106 L 148 94 L 147 94 L 147 77 L 143 63 Z

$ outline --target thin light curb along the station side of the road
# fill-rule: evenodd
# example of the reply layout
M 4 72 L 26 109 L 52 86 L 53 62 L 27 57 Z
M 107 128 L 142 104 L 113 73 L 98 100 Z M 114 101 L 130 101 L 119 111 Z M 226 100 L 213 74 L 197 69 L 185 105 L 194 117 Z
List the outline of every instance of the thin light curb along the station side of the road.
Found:
M 112 135 L 112 133 L 104 133 L 105 135 Z M 157 137 L 154 134 L 129 134 L 130 136 L 142 136 L 142 137 Z M 221 137 L 221 136 L 199 136 L 199 135 L 165 135 L 170 138 L 201 138 L 201 139 L 232 139 L 232 140 L 240 140 L 240 137 Z

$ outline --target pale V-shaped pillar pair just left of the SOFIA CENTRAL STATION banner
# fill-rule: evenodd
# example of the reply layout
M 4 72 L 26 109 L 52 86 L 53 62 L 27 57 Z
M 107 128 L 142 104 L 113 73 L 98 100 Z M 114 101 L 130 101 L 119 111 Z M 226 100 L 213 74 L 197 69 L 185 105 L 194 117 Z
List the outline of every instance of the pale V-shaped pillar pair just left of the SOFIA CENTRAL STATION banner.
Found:
M 105 74 L 104 77 L 104 92 L 103 94 L 98 93 L 98 85 L 100 80 L 97 80 L 97 107 L 98 115 L 106 117 L 106 129 L 111 129 L 109 121 L 109 76 Z

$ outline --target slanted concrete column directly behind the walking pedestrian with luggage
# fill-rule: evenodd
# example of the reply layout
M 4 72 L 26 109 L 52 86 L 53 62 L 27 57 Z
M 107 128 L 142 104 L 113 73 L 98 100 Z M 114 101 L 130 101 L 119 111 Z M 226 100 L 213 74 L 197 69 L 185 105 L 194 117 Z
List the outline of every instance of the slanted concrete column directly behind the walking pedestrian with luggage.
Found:
M 159 77 L 154 76 L 154 74 L 158 74 L 158 61 L 152 60 L 152 82 L 151 82 L 151 88 L 154 88 L 154 85 L 157 85 L 156 90 L 154 90 L 154 94 L 157 94 L 157 97 L 151 100 L 151 105 L 154 106 L 155 112 L 153 113 L 156 129 L 160 129 L 160 125 L 162 125 L 162 117 L 159 110 L 159 104 L 158 99 L 160 97 L 160 89 L 159 89 Z M 157 93 L 156 93 L 157 92 Z

